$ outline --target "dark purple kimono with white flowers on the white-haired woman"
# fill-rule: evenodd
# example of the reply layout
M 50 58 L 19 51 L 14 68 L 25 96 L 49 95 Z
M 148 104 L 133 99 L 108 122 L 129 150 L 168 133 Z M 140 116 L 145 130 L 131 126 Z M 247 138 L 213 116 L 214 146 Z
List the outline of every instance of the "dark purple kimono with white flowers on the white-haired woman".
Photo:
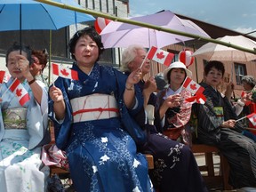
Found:
M 140 82 L 142 91 L 144 82 Z M 148 104 L 156 106 L 156 94 L 151 93 Z M 159 109 L 156 108 L 155 124 L 160 124 Z M 143 113 L 137 116 L 142 119 Z M 154 156 L 154 169 L 149 171 L 154 187 L 161 192 L 206 192 L 204 180 L 196 164 L 196 158 L 187 145 L 171 140 L 156 126 L 144 124 L 147 144 L 140 146 L 140 152 Z

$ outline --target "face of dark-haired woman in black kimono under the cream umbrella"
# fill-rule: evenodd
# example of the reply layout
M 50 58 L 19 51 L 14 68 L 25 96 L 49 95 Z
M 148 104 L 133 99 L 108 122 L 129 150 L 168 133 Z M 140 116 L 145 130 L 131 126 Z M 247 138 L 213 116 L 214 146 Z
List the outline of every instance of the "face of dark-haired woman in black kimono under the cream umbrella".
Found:
M 220 70 L 211 68 L 209 73 L 206 76 L 204 75 L 204 80 L 206 84 L 216 88 L 220 84 L 222 77 L 222 72 Z

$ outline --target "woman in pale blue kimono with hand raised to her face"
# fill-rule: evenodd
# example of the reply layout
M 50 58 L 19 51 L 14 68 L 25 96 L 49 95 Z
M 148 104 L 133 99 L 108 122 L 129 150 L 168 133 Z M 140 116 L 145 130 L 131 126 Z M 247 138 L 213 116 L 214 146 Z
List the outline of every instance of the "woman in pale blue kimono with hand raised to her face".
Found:
M 40 154 L 41 146 L 50 141 L 48 95 L 45 85 L 29 72 L 30 60 L 27 46 L 13 44 L 6 53 L 12 77 L 0 87 L 1 192 L 40 192 L 46 188 L 47 169 L 40 171 L 44 166 Z

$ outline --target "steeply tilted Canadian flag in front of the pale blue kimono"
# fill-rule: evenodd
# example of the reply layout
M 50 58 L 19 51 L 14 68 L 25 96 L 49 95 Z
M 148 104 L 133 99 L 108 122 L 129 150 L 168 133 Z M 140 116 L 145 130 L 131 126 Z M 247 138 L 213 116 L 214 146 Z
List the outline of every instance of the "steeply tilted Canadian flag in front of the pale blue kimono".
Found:
M 9 89 L 18 97 L 20 105 L 23 106 L 28 100 L 30 100 L 27 90 L 20 84 L 19 79 L 15 79 Z

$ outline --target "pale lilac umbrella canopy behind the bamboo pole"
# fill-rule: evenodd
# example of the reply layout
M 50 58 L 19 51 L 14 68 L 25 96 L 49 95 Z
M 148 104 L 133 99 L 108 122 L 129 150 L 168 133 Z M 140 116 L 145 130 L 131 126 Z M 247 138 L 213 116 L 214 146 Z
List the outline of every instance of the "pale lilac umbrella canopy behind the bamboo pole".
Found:
M 133 17 L 136 20 L 151 25 L 171 28 L 198 36 L 208 36 L 202 28 L 199 28 L 191 20 L 182 20 L 171 11 L 157 12 L 156 14 Z M 185 42 L 193 38 L 175 35 L 151 28 L 111 21 L 100 33 L 105 48 L 127 47 L 130 44 L 140 44 L 144 47 L 156 46 L 162 48 L 169 44 Z

